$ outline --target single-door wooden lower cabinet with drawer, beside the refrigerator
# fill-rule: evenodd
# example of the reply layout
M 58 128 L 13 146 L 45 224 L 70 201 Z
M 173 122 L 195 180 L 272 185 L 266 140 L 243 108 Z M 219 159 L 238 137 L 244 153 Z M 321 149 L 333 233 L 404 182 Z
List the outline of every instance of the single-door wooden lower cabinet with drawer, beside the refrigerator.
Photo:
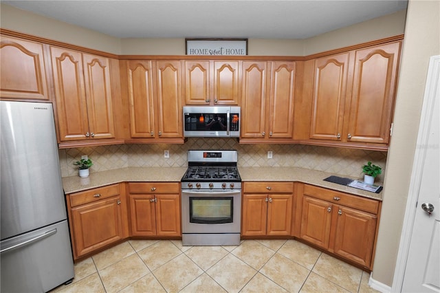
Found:
M 120 185 L 67 195 L 74 259 L 128 237 L 126 204 Z

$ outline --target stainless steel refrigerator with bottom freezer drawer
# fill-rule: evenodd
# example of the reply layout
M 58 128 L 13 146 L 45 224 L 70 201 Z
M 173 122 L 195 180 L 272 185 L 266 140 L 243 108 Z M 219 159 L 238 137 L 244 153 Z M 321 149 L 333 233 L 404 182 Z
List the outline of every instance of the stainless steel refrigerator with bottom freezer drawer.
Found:
M 52 104 L 0 101 L 1 292 L 74 278 Z

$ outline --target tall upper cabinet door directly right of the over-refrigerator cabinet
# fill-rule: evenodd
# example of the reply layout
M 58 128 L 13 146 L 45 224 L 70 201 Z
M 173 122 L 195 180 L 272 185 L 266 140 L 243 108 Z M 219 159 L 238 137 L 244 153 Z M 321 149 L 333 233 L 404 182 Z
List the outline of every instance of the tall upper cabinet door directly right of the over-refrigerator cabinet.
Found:
M 89 133 L 87 101 L 80 52 L 50 47 L 58 134 L 62 142 L 85 140 Z

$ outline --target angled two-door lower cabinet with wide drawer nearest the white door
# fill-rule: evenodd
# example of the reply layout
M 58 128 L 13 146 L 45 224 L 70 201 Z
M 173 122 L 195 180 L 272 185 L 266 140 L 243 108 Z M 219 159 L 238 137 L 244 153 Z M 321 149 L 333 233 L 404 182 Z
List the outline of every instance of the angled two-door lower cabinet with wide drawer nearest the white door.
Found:
M 305 184 L 300 238 L 371 270 L 379 212 L 374 199 Z

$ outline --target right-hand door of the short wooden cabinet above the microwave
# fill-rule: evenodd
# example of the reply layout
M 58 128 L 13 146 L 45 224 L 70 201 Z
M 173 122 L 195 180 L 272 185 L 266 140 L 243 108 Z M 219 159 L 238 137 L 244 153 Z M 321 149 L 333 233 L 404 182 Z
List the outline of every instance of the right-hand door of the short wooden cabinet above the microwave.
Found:
M 214 105 L 239 105 L 239 61 L 214 61 Z

